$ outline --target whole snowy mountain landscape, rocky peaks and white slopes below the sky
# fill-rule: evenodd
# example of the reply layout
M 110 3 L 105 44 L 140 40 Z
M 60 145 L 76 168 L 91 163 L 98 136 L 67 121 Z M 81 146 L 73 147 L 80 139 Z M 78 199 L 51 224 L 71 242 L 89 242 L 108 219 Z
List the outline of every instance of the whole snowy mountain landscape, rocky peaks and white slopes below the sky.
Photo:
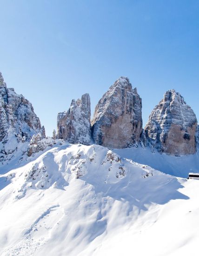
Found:
M 0 73 L 0 255 L 198 256 L 199 126 L 183 97 L 166 92 L 143 130 L 120 77 L 90 116 L 84 94 L 46 138 Z

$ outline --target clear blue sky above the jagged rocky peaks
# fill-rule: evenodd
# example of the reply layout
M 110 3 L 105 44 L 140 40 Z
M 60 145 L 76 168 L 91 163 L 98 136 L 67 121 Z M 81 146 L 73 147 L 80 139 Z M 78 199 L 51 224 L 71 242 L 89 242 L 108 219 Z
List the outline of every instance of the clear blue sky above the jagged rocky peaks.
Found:
M 0 0 L 0 71 L 47 135 L 73 98 L 89 93 L 93 112 L 121 75 L 144 125 L 172 88 L 199 119 L 199 0 Z

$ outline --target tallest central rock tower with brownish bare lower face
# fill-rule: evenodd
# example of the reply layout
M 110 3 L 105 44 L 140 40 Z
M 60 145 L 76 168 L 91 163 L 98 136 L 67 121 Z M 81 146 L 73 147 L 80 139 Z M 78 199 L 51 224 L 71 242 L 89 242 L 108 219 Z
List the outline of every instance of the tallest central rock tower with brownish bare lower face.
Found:
M 139 142 L 142 102 L 129 79 L 120 77 L 95 107 L 93 142 L 108 148 L 126 148 Z

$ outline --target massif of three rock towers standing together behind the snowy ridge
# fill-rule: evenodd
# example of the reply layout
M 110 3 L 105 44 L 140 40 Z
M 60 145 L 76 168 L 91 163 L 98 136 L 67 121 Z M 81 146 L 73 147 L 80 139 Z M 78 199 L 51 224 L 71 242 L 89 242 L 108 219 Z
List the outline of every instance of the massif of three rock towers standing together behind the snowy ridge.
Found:
M 192 155 L 198 146 L 198 123 L 192 108 L 174 89 L 168 90 L 142 128 L 142 100 L 127 77 L 102 96 L 90 121 L 89 94 L 73 100 L 57 118 L 57 137 L 70 143 L 99 144 L 108 148 L 142 145 L 170 155 Z

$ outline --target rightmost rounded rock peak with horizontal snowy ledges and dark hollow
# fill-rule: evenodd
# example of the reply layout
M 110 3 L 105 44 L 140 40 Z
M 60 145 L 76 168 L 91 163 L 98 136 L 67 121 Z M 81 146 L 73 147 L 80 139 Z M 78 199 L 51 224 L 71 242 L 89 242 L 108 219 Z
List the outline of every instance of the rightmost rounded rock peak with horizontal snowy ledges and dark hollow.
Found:
M 146 137 L 151 145 L 172 155 L 196 152 L 197 119 L 192 108 L 175 90 L 169 90 L 153 109 L 146 124 Z

